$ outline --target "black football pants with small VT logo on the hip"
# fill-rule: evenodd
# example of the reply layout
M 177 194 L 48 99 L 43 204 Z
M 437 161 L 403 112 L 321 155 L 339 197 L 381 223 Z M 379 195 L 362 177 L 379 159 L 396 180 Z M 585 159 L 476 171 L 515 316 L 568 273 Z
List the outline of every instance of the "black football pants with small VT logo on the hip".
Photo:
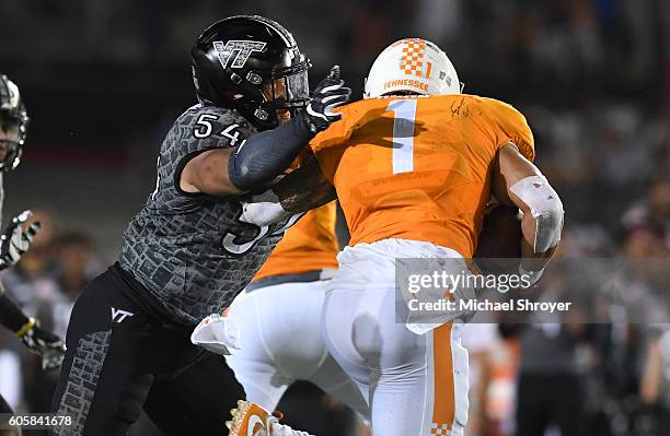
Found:
M 54 434 L 122 436 L 143 408 L 166 435 L 228 435 L 224 421 L 244 391 L 223 358 L 142 310 L 120 286 L 106 271 L 74 304 L 51 408 L 72 424 Z

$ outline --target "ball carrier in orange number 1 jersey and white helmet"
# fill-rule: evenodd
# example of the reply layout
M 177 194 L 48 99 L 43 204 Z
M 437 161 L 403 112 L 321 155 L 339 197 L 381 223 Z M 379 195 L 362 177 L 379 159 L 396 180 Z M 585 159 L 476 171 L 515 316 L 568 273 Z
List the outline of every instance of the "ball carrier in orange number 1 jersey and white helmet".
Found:
M 339 110 L 342 120 L 312 140 L 315 158 L 273 188 L 277 216 L 330 201 L 333 188 L 342 203 L 351 240 L 328 283 L 323 329 L 331 354 L 369 392 L 373 434 L 462 435 L 467 353 L 460 337 L 471 314 L 397 322 L 395 260 L 447 258 L 466 269 L 493 195 L 523 212 L 520 273 L 534 282 L 561 239 L 563 204 L 531 163 L 525 118 L 461 94 L 451 61 L 430 42 L 384 49 L 366 99 Z

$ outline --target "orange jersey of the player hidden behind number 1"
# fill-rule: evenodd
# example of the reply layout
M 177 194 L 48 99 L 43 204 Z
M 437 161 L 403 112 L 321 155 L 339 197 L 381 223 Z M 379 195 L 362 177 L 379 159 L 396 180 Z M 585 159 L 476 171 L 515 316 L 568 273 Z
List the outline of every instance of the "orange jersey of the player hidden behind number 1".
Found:
M 337 268 L 335 202 L 309 211 L 289 228 L 253 280 Z

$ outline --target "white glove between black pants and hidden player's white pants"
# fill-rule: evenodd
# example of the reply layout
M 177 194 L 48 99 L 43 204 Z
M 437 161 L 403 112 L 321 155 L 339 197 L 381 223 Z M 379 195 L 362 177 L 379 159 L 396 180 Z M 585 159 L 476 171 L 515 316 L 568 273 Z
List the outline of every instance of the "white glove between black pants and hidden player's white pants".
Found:
M 220 355 L 230 355 L 230 349 L 240 350 L 240 326 L 230 317 L 211 314 L 193 330 L 190 342 Z

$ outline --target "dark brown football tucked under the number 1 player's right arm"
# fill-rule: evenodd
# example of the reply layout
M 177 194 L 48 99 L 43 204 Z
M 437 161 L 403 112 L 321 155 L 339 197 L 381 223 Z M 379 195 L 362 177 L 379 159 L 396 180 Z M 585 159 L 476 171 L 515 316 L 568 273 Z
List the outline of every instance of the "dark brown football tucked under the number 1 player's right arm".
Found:
M 485 274 L 519 271 L 521 257 L 521 220 L 519 210 L 495 205 L 484 216 L 474 262 Z

